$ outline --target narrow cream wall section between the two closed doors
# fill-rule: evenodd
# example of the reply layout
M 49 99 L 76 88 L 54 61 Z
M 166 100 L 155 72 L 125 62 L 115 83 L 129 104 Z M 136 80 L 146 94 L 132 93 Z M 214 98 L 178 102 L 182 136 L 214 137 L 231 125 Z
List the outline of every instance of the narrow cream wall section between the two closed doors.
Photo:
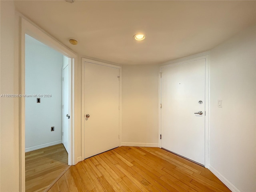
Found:
M 158 70 L 122 66 L 122 145 L 158 146 Z

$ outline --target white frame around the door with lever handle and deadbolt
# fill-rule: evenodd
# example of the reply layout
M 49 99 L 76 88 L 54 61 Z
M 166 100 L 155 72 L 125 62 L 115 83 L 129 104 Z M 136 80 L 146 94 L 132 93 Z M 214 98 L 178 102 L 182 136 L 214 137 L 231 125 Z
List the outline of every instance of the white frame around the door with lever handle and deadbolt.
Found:
M 200 59 L 205 59 L 205 167 L 209 168 L 210 162 L 209 162 L 209 103 L 210 103 L 210 94 L 209 94 L 209 85 L 210 85 L 210 79 L 209 79 L 209 72 L 210 72 L 210 64 L 209 64 L 209 53 L 208 52 L 203 52 L 201 54 L 196 54 L 194 56 L 189 56 L 186 58 L 181 58 L 178 60 L 174 60 L 171 62 L 166 62 L 162 64 L 159 68 L 159 78 L 158 78 L 158 144 L 159 147 L 161 148 L 161 140 L 160 140 L 160 134 L 161 134 L 161 70 L 162 68 L 169 67 L 169 66 L 174 66 L 186 62 L 192 62 L 195 60 L 200 60 Z

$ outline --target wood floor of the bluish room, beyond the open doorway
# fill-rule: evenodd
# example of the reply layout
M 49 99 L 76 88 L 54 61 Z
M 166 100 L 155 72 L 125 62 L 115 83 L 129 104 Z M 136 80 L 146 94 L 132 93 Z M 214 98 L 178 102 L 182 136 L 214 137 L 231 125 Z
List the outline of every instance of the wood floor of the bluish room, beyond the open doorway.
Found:
M 68 168 L 63 144 L 26 152 L 26 192 L 44 191 Z

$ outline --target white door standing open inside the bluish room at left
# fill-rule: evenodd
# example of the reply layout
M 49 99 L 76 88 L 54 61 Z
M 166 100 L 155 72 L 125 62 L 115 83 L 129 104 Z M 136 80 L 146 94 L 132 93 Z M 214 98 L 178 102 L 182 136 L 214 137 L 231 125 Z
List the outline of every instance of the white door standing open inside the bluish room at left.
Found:
M 63 68 L 63 82 L 62 82 L 62 143 L 64 147 L 66 148 L 66 151 L 69 153 L 68 148 L 68 127 L 69 127 L 69 120 L 70 120 L 70 114 L 69 114 L 69 104 L 68 104 L 68 82 L 69 82 L 69 68 L 68 65 Z

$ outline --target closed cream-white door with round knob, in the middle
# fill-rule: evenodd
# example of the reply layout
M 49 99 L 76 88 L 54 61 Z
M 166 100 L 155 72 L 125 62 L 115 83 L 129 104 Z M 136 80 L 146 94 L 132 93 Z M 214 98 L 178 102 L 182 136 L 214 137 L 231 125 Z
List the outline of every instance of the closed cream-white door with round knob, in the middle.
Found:
M 85 62 L 84 70 L 88 158 L 119 146 L 119 68 Z

